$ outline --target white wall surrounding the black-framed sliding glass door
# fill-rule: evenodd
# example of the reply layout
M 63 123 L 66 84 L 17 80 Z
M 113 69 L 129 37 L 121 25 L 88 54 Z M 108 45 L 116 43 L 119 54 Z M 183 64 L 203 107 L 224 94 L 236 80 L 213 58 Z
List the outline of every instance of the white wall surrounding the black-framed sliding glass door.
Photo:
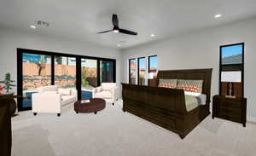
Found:
M 17 80 L 17 48 L 116 59 L 116 80 L 120 84 L 122 60 L 119 50 L 81 41 L 52 38 L 34 31 L 20 32 L 6 28 L 0 28 L 0 80 L 4 78 L 6 72 L 10 72 L 12 78 Z M 16 88 L 14 90 L 16 91 Z

